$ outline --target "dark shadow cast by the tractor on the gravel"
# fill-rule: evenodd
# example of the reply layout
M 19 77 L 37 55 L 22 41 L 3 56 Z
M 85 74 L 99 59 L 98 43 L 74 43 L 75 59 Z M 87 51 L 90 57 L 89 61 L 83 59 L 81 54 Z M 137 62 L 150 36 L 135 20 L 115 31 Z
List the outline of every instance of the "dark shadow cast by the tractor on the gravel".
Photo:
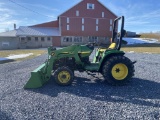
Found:
M 103 79 L 90 80 L 75 77 L 75 81 L 71 86 L 59 86 L 53 80 L 50 80 L 42 88 L 29 90 L 51 97 L 57 97 L 60 93 L 67 93 L 98 101 L 160 107 L 160 102 L 155 102 L 156 99 L 160 99 L 160 83 L 139 78 L 133 78 L 125 86 L 110 86 Z M 153 99 L 154 102 L 152 101 Z

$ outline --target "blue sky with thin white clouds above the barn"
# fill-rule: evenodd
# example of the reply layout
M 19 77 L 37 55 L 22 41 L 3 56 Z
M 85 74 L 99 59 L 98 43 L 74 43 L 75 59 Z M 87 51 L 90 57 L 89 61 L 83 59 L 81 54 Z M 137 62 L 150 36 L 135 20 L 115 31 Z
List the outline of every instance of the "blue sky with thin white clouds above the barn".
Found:
M 0 0 L 0 32 L 13 24 L 29 26 L 57 19 L 81 0 Z M 125 29 L 137 33 L 160 31 L 159 0 L 99 0 L 117 16 L 125 16 Z

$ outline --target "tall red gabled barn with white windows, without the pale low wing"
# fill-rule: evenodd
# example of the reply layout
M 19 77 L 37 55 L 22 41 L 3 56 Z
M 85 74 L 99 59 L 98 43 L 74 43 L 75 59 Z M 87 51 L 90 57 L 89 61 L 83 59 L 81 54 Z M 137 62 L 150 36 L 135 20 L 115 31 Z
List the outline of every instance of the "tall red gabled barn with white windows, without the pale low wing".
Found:
M 32 27 L 52 27 L 59 30 L 52 36 L 53 46 L 68 46 L 97 41 L 107 43 L 117 16 L 98 0 L 81 0 L 58 16 L 58 20 Z

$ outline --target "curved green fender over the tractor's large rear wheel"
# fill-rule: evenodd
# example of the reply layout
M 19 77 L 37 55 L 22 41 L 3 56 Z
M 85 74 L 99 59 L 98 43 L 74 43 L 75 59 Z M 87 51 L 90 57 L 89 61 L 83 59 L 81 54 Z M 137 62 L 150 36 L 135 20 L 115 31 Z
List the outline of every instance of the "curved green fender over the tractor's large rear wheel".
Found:
M 107 52 L 105 53 L 104 57 L 100 61 L 100 67 L 99 67 L 99 72 L 102 72 L 102 67 L 104 63 L 111 58 L 112 56 L 123 56 L 125 53 L 123 51 L 117 51 L 117 52 Z

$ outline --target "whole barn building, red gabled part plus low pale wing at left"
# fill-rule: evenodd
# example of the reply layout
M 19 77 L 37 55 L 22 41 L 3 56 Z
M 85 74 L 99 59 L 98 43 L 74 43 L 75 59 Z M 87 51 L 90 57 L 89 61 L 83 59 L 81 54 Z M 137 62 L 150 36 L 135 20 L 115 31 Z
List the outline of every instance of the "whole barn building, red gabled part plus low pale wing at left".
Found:
M 13 30 L 12 32 L 15 34 L 11 41 L 18 42 L 16 44 L 17 48 L 37 48 L 51 45 L 68 46 L 88 42 L 106 44 L 109 43 L 112 36 L 113 21 L 116 17 L 117 15 L 99 0 L 81 0 L 75 6 L 57 16 L 55 21 L 21 26 Z M 4 39 L 4 34 L 7 37 L 9 32 L 0 33 L 0 41 L 3 41 L 3 44 L 0 42 L 3 46 L 0 46 L 0 49 L 8 45 L 6 39 Z M 11 44 L 9 42 L 9 46 Z

